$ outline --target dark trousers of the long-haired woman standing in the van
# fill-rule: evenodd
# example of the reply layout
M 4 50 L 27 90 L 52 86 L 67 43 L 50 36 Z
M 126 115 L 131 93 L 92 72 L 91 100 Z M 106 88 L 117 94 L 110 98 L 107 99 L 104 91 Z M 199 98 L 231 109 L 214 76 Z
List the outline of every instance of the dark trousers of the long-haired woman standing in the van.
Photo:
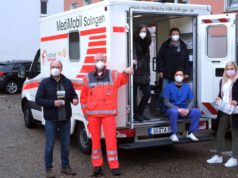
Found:
M 138 96 L 138 88 L 142 90 L 142 98 L 140 100 L 139 105 L 137 106 L 137 96 Z M 134 115 L 139 114 L 142 115 L 145 106 L 148 103 L 149 99 L 151 96 L 151 87 L 149 83 L 146 84 L 139 84 L 139 83 L 134 83 L 133 86 L 133 98 L 134 98 Z

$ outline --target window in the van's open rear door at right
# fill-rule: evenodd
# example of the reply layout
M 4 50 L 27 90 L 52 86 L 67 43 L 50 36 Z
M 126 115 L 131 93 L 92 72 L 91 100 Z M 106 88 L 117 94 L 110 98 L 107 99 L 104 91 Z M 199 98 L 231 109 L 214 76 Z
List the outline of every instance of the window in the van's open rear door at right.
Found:
M 224 58 L 227 56 L 226 26 L 210 26 L 207 28 L 207 56 Z

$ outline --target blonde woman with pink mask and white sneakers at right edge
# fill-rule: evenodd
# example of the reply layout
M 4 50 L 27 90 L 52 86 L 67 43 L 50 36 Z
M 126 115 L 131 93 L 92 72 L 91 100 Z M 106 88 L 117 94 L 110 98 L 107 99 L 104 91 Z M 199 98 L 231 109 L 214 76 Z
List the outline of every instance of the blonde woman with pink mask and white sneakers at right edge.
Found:
M 225 135 L 231 127 L 232 133 L 232 156 L 225 163 L 225 167 L 237 166 L 238 156 L 238 113 L 232 113 L 229 108 L 237 107 L 238 103 L 238 74 L 235 62 L 229 62 L 225 66 L 223 77 L 220 81 L 219 94 L 215 99 L 216 103 L 223 106 L 220 112 L 218 130 L 217 130 L 217 153 L 207 160 L 208 164 L 223 163 L 222 151 L 225 145 Z M 228 109 L 226 109 L 228 108 Z

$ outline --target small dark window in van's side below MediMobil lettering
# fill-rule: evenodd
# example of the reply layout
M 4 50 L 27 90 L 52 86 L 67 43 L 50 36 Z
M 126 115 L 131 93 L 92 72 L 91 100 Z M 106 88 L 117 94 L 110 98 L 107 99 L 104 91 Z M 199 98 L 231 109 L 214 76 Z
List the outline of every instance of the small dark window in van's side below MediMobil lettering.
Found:
M 69 59 L 71 61 L 79 61 L 79 32 L 72 32 L 69 34 Z

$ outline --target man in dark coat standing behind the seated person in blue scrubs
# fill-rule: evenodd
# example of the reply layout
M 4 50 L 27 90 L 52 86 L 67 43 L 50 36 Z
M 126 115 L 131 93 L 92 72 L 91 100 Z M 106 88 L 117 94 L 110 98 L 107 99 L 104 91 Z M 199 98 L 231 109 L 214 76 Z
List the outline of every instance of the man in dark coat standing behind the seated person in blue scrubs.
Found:
M 158 109 L 163 112 L 162 93 L 166 85 L 173 81 L 174 72 L 181 68 L 184 79 L 189 78 L 189 55 L 186 44 L 180 39 L 179 28 L 170 29 L 170 38 L 165 41 L 156 57 L 158 79 L 162 79 L 162 92 L 158 100 Z

